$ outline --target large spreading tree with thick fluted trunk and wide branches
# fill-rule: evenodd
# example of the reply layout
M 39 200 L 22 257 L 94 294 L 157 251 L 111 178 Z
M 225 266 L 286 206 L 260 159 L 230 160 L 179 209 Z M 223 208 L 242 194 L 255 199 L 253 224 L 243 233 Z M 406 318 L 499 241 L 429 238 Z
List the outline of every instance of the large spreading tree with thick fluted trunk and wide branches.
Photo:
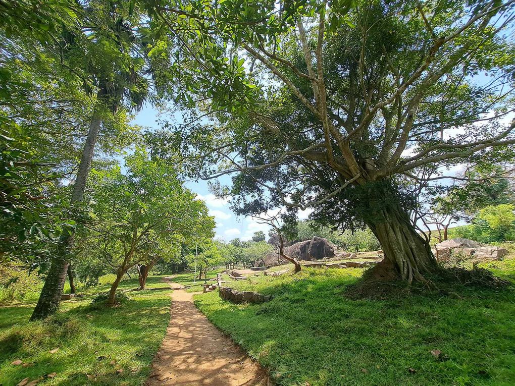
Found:
M 511 0 L 151 3 L 160 49 L 182 47 L 160 56 L 181 69 L 175 100 L 198 108 L 150 136 L 155 153 L 189 149 L 200 178 L 235 173 L 221 192 L 239 213 L 368 225 L 381 277 L 425 282 L 436 265 L 406 179 L 511 156 Z

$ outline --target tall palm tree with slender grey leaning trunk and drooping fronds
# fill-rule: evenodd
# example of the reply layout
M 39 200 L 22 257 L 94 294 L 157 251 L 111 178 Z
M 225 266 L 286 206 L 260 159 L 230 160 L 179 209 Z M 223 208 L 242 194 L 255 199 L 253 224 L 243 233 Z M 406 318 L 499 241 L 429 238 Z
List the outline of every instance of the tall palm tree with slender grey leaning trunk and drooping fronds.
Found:
M 95 145 L 104 114 L 115 114 L 121 106 L 139 110 L 149 95 L 149 84 L 143 75 L 143 65 L 138 57 L 138 37 L 114 3 L 98 0 L 84 10 L 85 25 L 91 29 L 84 34 L 86 39 L 81 50 L 82 59 L 91 69 L 91 79 L 96 84 L 96 104 L 93 111 L 88 135 L 84 142 L 81 160 L 73 184 L 71 203 L 82 201 L 86 181 L 91 169 Z M 98 6 L 97 8 L 93 7 Z M 99 18 L 99 16 L 102 16 Z M 135 23 L 139 16 L 133 15 Z M 91 27 L 94 25 L 95 27 Z M 81 38 L 84 38 L 82 36 Z M 77 45 L 76 36 L 73 44 Z M 77 47 L 74 47 L 75 49 Z M 48 275 L 41 291 L 36 308 L 30 320 L 45 319 L 55 313 L 72 257 L 74 234 L 64 234 L 59 240 L 55 256 L 51 259 Z

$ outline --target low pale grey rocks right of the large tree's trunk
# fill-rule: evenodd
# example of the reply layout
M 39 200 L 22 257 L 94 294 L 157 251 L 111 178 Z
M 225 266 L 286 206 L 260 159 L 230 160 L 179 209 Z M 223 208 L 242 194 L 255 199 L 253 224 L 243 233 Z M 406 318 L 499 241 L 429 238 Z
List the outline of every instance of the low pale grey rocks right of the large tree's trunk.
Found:
M 505 248 L 485 245 L 465 238 L 445 240 L 436 244 L 436 258 L 438 260 L 447 260 L 451 256 L 451 252 L 477 260 L 500 260 L 508 254 L 508 250 Z

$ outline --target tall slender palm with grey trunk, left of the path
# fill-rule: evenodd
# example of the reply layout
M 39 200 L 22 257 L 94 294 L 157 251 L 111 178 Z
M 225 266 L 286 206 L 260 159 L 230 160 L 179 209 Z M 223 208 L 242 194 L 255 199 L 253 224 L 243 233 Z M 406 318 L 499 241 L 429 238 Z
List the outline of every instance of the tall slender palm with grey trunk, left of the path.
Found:
M 85 69 L 84 87 L 96 95 L 96 100 L 71 191 L 70 202 L 75 210 L 81 207 L 78 203 L 84 197 L 102 122 L 112 119 L 119 110 L 141 108 L 149 86 L 142 75 L 145 61 L 140 55 L 142 43 L 136 28 L 142 15 L 134 4 L 93 0 L 77 13 L 77 27 L 61 31 L 64 44 L 69 47 L 65 54 L 73 52 L 73 62 L 69 64 L 72 71 L 77 65 Z M 71 230 L 60 237 L 31 320 L 44 319 L 59 306 L 73 256 L 73 234 Z

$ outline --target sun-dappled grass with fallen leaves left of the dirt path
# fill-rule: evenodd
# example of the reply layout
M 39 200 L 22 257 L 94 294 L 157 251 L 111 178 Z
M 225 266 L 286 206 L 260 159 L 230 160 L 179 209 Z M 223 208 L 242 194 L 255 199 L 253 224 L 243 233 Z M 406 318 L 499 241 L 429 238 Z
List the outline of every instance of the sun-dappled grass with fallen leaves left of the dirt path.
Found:
M 147 284 L 167 286 L 159 276 L 150 276 Z M 120 284 L 121 289 L 137 286 L 137 278 Z M 44 323 L 28 322 L 34 304 L 0 308 L 0 385 L 53 372 L 57 373 L 54 378 L 40 384 L 142 384 L 168 325 L 171 290 L 129 292 L 131 300 L 116 308 L 90 306 L 91 295 L 108 288 L 95 287 L 84 299 L 63 302 L 56 317 Z M 56 347 L 57 353 L 49 353 Z M 33 365 L 11 365 L 16 359 Z M 116 373 L 117 369 L 124 371 Z

